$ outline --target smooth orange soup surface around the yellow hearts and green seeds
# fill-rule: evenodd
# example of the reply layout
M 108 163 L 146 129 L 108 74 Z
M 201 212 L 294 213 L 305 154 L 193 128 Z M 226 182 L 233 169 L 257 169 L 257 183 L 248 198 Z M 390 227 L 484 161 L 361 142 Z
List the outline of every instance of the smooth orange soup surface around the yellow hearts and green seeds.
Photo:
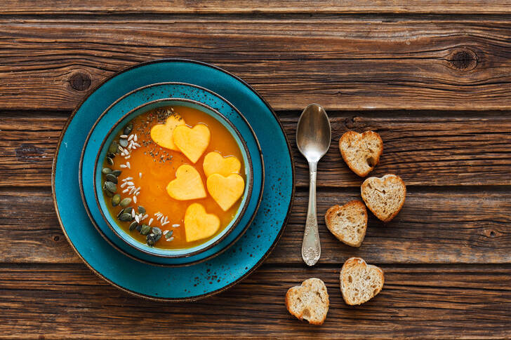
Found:
M 151 128 L 156 124 L 165 123 L 166 118 L 175 114 L 182 117 L 188 127 L 192 128 L 194 125 L 204 124 L 211 132 L 211 140 L 208 147 L 196 163 L 192 163 L 182 152 L 160 147 L 152 140 Z M 153 246 L 171 250 L 186 249 L 201 245 L 223 231 L 230 224 L 234 215 L 236 215 L 242 198 L 239 198 L 227 211 L 220 208 L 220 205 L 212 198 L 206 188 L 203 161 L 204 157 L 211 151 L 217 151 L 223 157 L 235 156 L 241 163 L 239 175 L 243 177 L 246 184 L 246 174 L 244 172 L 241 151 L 227 128 L 208 114 L 190 107 L 153 109 L 137 116 L 126 126 L 128 125 L 133 126 L 131 132 L 128 135 L 124 135 L 125 131 L 121 129 L 121 132 L 119 132 L 114 141 L 119 142 L 119 137 L 124 135 L 124 140 L 129 140 L 128 143 L 130 144 L 133 142 L 129 154 L 126 147 L 121 147 L 126 150 L 126 154 L 121 154 L 117 151 L 117 154 L 112 158 L 113 165 L 107 163 L 107 158 L 105 158 L 103 168 L 121 170 L 121 174 L 117 177 L 118 183 L 115 193 L 120 194 L 121 200 L 125 198 L 131 199 L 131 203 L 127 207 L 132 207 L 139 219 L 142 215 L 147 215 L 145 219 L 138 222 L 139 229 L 143 224 L 161 229 L 163 235 Z M 126 138 L 126 136 L 128 137 Z M 134 142 L 135 140 L 136 142 Z M 180 165 L 185 164 L 192 165 L 199 172 L 206 189 L 206 198 L 176 200 L 169 196 L 167 192 L 168 183 L 176 178 L 176 170 L 178 170 Z M 105 175 L 102 175 L 102 177 L 105 182 Z M 112 218 L 135 240 L 140 241 L 140 243 L 146 243 L 147 236 L 142 235 L 140 230 L 129 230 L 129 226 L 135 222 L 134 219 L 125 222 L 119 221 L 117 215 L 124 207 L 121 205 L 114 206 L 112 204 L 112 194 L 107 195 L 105 192 L 106 190 L 103 196 Z M 204 206 L 207 214 L 216 215 L 220 219 L 220 228 L 208 238 L 187 242 L 184 223 L 185 211 L 192 203 L 200 203 Z M 142 206 L 143 210 L 145 210 L 143 214 L 139 213 L 138 206 Z M 168 232 L 171 232 L 171 237 L 166 237 Z

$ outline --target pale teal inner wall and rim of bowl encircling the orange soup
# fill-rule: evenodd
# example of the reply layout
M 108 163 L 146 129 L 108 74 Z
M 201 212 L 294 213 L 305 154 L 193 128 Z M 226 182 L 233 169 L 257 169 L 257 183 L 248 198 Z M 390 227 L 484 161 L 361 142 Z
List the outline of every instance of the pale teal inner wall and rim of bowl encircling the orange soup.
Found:
M 105 198 L 103 197 L 102 192 L 102 173 L 101 173 L 103 160 L 107 156 L 108 147 L 110 146 L 110 144 L 112 144 L 114 138 L 117 136 L 117 133 L 122 128 L 124 128 L 124 126 L 129 121 L 131 121 L 136 116 L 139 116 L 140 114 L 145 114 L 147 111 L 150 111 L 152 109 L 172 106 L 183 106 L 191 107 L 192 109 L 198 109 L 199 111 L 202 111 L 205 114 L 208 114 L 209 116 L 215 118 L 216 121 L 222 123 L 222 125 L 224 125 L 225 128 L 227 128 L 227 130 L 231 133 L 232 137 L 234 137 L 234 140 L 238 144 L 238 147 L 241 151 L 241 156 L 243 157 L 245 167 L 244 170 L 246 174 L 246 185 L 243 196 L 241 198 L 241 204 L 239 205 L 239 208 L 234 217 L 232 218 L 230 224 L 228 224 L 223 229 L 223 231 L 218 233 L 218 235 L 216 235 L 211 240 L 207 240 L 206 242 L 201 243 L 200 245 L 197 245 L 195 247 L 179 250 L 167 250 L 158 247 L 150 247 L 145 243 L 140 243 L 138 240 L 135 240 L 135 238 L 132 238 L 129 233 L 126 233 L 126 231 L 124 231 L 124 229 L 122 229 L 121 226 L 117 224 L 114 217 L 110 215 L 110 212 L 107 208 L 107 204 L 105 202 Z M 110 131 L 107 131 L 105 133 L 106 133 L 105 139 L 101 144 L 100 152 L 98 153 L 98 156 L 96 157 L 95 160 L 93 175 L 95 200 L 96 203 L 98 203 L 101 215 L 103 219 L 105 219 L 107 225 L 110 227 L 110 229 L 112 229 L 114 234 L 121 240 L 123 240 L 126 244 L 130 245 L 131 247 L 134 247 L 137 250 L 140 250 L 141 252 L 145 252 L 146 254 L 150 254 L 157 257 L 166 258 L 190 257 L 192 255 L 205 252 L 211 247 L 214 247 L 236 228 L 237 224 L 239 223 L 239 220 L 241 219 L 241 217 L 243 217 L 244 212 L 246 211 L 248 202 L 251 197 L 253 189 L 253 169 L 251 156 L 248 153 L 248 147 L 246 146 L 246 143 L 244 142 L 237 128 L 235 128 L 234 125 L 229 120 L 227 120 L 225 116 L 223 116 L 223 114 L 220 114 L 220 112 L 216 111 L 215 109 L 208 107 L 206 104 L 202 104 L 201 102 L 197 102 L 194 100 L 189 100 L 185 98 L 166 98 L 161 100 L 154 100 L 152 102 L 147 102 L 145 104 L 142 104 L 140 107 L 137 107 L 132 111 L 129 111 L 121 119 L 119 119 L 119 121 L 117 121 L 117 123 L 110 129 Z

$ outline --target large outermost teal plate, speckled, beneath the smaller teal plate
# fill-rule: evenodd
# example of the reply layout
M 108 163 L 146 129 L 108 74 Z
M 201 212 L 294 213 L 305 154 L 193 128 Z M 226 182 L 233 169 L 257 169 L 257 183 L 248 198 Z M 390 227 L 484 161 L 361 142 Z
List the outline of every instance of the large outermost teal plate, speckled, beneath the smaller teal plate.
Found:
M 193 266 L 152 266 L 118 252 L 93 228 L 81 202 L 79 150 L 102 111 L 124 94 L 152 83 L 177 81 L 208 88 L 244 113 L 265 158 L 263 200 L 235 247 Z M 52 170 L 55 210 L 62 231 L 92 271 L 112 285 L 148 299 L 190 301 L 239 283 L 270 254 L 284 231 L 294 189 L 293 158 L 270 105 L 248 84 L 210 64 L 157 60 L 139 64 L 104 81 L 74 111 L 60 136 Z

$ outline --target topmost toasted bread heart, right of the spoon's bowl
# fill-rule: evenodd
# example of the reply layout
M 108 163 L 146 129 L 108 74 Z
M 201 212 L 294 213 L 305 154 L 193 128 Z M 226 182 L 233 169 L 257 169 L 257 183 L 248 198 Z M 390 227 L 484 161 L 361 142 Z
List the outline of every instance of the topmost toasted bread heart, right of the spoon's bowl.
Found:
M 340 137 L 339 149 L 347 166 L 360 177 L 366 177 L 380 161 L 383 141 L 373 131 L 347 131 Z

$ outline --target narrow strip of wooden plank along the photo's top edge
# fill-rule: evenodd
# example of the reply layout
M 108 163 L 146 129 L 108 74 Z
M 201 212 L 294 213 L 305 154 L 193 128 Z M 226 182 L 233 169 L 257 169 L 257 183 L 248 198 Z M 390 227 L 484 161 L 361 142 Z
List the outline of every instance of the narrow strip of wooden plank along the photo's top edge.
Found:
M 143 3 L 77 0 L 6 1 L 2 14 L 112 14 L 112 13 L 510 13 L 506 0 L 412 1 L 254 1 L 254 0 L 148 0 Z

